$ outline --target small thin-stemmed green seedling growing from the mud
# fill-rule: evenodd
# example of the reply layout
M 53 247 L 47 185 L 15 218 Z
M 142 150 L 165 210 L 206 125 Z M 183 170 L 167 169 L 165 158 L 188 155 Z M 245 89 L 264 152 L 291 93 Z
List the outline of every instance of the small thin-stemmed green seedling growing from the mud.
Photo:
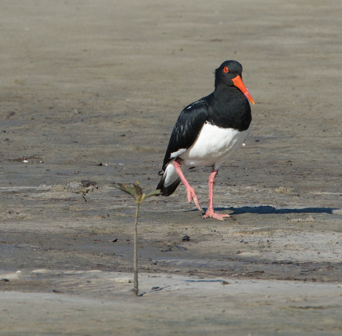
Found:
M 137 242 L 136 242 L 136 227 L 137 227 L 137 223 L 138 223 L 139 207 L 140 207 L 140 204 L 142 204 L 146 198 L 153 196 L 153 195 L 160 195 L 160 190 L 154 190 L 148 194 L 144 194 L 143 190 L 141 189 L 141 187 L 139 185 L 139 181 L 136 181 L 136 183 L 133 185 L 133 188 L 127 184 L 124 184 L 124 183 L 111 184 L 110 186 L 113 186 L 113 187 L 131 195 L 134 198 L 134 201 L 136 203 L 135 221 L 134 221 L 134 242 L 133 242 L 133 246 L 134 246 L 134 252 L 133 252 L 134 288 L 133 288 L 133 292 L 134 292 L 135 296 L 138 296 L 138 252 L 137 252 Z

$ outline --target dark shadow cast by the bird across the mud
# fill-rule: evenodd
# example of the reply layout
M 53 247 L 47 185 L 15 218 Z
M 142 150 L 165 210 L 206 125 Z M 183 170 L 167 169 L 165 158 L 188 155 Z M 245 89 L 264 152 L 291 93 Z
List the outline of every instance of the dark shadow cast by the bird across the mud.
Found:
M 190 211 L 196 211 L 197 209 L 192 209 Z M 207 209 L 203 208 L 204 211 Z M 260 206 L 244 206 L 241 208 L 215 208 L 216 211 L 224 211 L 231 210 L 233 213 L 229 213 L 229 215 L 241 215 L 241 214 L 260 214 L 260 215 L 280 215 L 280 214 L 333 214 L 333 210 L 340 210 L 339 208 L 318 208 L 318 207 L 308 207 L 308 208 L 300 208 L 300 209 L 288 209 L 288 208 L 280 208 L 276 209 L 275 207 L 269 205 L 260 205 Z

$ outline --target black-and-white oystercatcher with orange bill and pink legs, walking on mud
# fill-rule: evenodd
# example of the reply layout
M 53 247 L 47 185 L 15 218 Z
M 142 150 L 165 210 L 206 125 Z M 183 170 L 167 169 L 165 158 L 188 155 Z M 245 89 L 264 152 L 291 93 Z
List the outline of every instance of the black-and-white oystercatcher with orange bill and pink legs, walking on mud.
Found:
M 185 173 L 195 167 L 212 167 L 208 208 L 203 218 L 223 220 L 230 216 L 215 212 L 213 207 L 216 175 L 221 165 L 245 142 L 252 121 L 249 102 L 254 105 L 254 100 L 242 81 L 239 62 L 225 61 L 214 74 L 214 91 L 187 105 L 180 113 L 158 172 L 161 179 L 156 189 L 161 195 L 169 196 L 182 181 L 188 202 L 193 201 L 203 211 Z

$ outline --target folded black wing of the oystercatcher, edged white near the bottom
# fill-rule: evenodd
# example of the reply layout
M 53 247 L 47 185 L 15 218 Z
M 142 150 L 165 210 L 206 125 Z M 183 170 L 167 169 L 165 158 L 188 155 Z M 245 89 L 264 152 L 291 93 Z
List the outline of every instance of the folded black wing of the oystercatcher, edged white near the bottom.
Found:
M 171 133 L 163 162 L 163 171 L 165 171 L 170 160 L 177 156 L 174 155 L 171 157 L 172 153 L 191 147 L 207 118 L 208 104 L 203 99 L 198 100 L 183 109 Z

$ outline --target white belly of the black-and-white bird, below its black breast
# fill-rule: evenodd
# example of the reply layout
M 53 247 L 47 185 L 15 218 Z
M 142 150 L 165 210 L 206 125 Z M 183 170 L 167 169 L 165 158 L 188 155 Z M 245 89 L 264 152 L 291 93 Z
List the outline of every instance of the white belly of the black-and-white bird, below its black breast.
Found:
M 212 166 L 219 168 L 229 156 L 234 154 L 247 138 L 246 131 L 220 128 L 206 123 L 196 141 L 180 157 L 188 167 Z

